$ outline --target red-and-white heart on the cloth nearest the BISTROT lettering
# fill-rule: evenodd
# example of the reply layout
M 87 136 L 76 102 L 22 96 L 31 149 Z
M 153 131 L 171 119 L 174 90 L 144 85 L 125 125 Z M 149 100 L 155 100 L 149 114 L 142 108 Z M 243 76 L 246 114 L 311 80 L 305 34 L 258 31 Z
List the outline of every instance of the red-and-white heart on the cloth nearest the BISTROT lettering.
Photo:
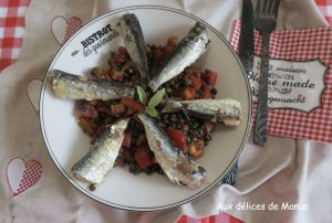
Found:
M 69 19 L 55 17 L 51 24 L 52 34 L 60 45 L 63 45 L 81 28 L 82 20 L 77 17 L 71 17 Z

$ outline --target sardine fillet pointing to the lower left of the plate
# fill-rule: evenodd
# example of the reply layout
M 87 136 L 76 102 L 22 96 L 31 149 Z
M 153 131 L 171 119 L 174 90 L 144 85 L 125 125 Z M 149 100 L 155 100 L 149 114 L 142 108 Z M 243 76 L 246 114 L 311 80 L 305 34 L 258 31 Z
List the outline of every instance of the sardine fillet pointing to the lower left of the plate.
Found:
M 87 153 L 73 166 L 72 173 L 74 177 L 90 183 L 101 183 L 106 173 L 113 168 L 127 124 L 128 119 L 123 119 L 110 127 L 92 145 Z

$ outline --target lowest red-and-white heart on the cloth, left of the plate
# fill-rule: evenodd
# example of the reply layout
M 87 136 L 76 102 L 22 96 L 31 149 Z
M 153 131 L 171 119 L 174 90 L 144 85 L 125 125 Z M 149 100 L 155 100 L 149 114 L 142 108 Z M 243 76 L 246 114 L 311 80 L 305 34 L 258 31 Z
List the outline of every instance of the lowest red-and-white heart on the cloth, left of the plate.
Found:
M 14 158 L 9 161 L 6 174 L 9 188 L 15 197 L 40 180 L 42 176 L 42 166 L 34 159 L 25 162 L 21 158 Z

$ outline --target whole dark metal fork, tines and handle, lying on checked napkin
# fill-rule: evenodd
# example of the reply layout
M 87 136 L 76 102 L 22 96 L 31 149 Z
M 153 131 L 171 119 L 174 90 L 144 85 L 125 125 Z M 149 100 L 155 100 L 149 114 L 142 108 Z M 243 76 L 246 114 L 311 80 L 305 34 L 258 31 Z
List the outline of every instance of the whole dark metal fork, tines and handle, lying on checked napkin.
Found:
M 262 35 L 262 61 L 253 142 L 267 142 L 268 119 L 268 75 L 269 75 L 269 44 L 270 34 L 276 29 L 280 0 L 258 0 L 255 9 L 255 26 Z

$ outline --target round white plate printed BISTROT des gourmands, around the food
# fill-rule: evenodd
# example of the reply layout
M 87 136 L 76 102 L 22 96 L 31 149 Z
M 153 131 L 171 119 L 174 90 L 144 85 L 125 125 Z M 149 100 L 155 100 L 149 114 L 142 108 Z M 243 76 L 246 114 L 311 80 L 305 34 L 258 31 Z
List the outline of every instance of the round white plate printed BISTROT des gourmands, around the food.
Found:
M 106 66 L 110 51 L 123 45 L 121 34 L 106 41 L 95 52 L 84 56 L 82 41 L 103 31 L 107 24 L 120 33 L 118 18 L 132 12 L 141 21 L 145 41 L 151 44 L 165 44 L 168 35 L 183 38 L 196 21 L 208 29 L 211 40 L 209 50 L 197 61 L 197 66 L 218 72 L 218 98 L 231 97 L 242 106 L 242 123 L 237 128 L 218 127 L 205 156 L 198 162 L 208 172 L 207 182 L 197 190 L 176 185 L 159 174 L 134 176 L 127 170 L 115 167 L 105 181 L 95 191 L 90 191 L 85 183 L 74 179 L 71 167 L 87 151 L 90 138 L 82 132 L 74 116 L 74 102 L 55 98 L 50 83 L 44 81 L 40 99 L 40 121 L 48 150 L 62 174 L 81 192 L 104 204 L 136 211 L 157 211 L 175 208 L 207 193 L 230 170 L 238 159 L 248 138 L 251 96 L 249 83 L 239 57 L 227 40 L 205 21 L 184 11 L 164 7 L 129 7 L 106 13 L 86 24 L 72 36 L 58 52 L 49 70 L 58 68 L 73 74 L 87 74 L 96 65 Z M 104 29 L 104 31 L 106 31 Z M 111 33 L 102 39 L 107 39 Z M 86 50 L 86 49 L 85 49 Z

